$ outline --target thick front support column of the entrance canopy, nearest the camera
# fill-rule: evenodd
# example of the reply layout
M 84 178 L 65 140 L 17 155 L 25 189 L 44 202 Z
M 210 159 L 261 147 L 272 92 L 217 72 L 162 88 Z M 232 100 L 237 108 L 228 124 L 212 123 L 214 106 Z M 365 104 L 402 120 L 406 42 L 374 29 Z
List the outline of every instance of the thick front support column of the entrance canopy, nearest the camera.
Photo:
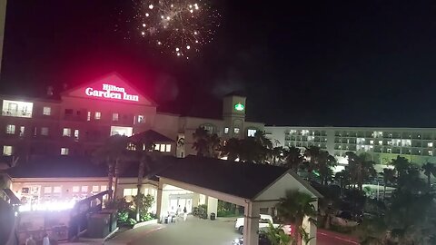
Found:
M 245 205 L 243 219 L 243 244 L 259 245 L 259 220 L 260 209 L 252 201 Z

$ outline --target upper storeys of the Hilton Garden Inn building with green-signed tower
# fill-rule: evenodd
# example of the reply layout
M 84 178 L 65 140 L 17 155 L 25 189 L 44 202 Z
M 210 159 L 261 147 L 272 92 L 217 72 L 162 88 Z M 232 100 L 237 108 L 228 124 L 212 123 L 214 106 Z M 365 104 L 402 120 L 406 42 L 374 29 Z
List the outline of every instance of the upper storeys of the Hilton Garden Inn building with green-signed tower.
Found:
M 155 142 L 156 150 L 184 157 L 195 154 L 193 132 L 200 126 L 224 139 L 263 130 L 263 123 L 245 122 L 243 96 L 223 98 L 221 120 L 161 113 L 117 73 L 64 91 L 57 99 L 48 90 L 44 98 L 2 95 L 0 104 L 0 147 L 5 156 L 91 155 L 110 135 L 153 130 L 173 140 Z

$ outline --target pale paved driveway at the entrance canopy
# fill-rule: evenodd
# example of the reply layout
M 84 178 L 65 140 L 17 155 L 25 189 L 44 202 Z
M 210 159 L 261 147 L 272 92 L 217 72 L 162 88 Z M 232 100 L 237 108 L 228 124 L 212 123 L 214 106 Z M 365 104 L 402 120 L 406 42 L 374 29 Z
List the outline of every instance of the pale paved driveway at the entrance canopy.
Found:
M 125 231 L 104 244 L 128 245 L 231 245 L 241 235 L 234 230 L 233 219 L 200 220 L 188 217 L 186 221 L 154 224 Z M 343 236 L 318 232 L 317 245 L 355 245 Z

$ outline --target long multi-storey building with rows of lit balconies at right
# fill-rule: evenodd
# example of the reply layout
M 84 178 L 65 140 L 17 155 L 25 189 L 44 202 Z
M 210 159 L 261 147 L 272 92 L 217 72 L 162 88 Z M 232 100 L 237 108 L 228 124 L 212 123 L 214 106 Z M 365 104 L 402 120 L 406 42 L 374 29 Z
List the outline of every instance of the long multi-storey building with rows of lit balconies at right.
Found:
M 345 152 L 368 152 L 387 164 L 398 155 L 415 163 L 436 162 L 436 128 L 265 126 L 274 146 L 318 146 L 347 163 Z

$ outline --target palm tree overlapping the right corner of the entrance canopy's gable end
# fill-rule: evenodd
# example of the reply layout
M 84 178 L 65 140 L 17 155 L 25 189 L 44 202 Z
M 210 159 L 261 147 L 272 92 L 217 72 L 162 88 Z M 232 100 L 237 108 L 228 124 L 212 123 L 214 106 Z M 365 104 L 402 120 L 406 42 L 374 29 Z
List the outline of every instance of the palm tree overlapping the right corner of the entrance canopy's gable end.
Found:
M 316 222 L 317 211 L 312 204 L 314 201 L 317 199 L 308 193 L 289 190 L 277 204 L 277 211 L 282 220 L 295 223 L 294 235 L 297 244 L 302 242 L 302 234 L 298 230 L 302 227 L 304 218 L 308 217 L 310 222 Z

